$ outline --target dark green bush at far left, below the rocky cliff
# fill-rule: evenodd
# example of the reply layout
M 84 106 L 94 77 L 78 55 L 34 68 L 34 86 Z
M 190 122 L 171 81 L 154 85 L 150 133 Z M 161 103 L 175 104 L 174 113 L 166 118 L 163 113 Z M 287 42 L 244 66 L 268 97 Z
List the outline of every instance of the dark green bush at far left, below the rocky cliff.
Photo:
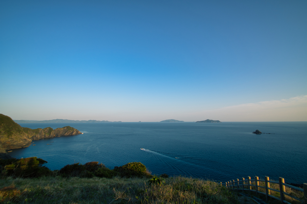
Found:
M 37 157 L 19 159 L 17 161 L 13 161 L 11 164 L 7 164 L 4 167 L 2 174 L 5 176 L 23 178 L 50 175 L 52 171 L 50 171 L 47 167 L 42 166 L 45 163 L 47 163 L 47 161 Z

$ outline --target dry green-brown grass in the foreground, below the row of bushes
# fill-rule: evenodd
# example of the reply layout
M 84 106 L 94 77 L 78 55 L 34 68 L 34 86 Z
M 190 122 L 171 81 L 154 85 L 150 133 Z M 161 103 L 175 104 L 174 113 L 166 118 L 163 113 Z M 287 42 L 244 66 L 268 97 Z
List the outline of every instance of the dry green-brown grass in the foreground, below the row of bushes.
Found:
M 209 180 L 181 176 L 150 184 L 148 178 L 41 177 L 0 180 L 1 203 L 238 203 Z

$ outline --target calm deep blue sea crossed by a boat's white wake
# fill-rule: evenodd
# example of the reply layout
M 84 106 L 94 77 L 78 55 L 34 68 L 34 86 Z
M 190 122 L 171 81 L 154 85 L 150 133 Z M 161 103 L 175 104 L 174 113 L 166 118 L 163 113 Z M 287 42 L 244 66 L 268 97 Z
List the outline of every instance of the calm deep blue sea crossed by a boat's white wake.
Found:
M 275 180 L 283 177 L 286 183 L 307 183 L 307 122 L 20 125 L 32 129 L 69 125 L 84 133 L 33 140 L 35 146 L 10 152 L 16 158 L 42 158 L 48 161 L 46 166 L 51 170 L 77 162 L 99 161 L 111 169 L 129 162 L 142 162 L 153 174 L 222 182 L 256 175 Z M 274 134 L 252 134 L 256 129 Z

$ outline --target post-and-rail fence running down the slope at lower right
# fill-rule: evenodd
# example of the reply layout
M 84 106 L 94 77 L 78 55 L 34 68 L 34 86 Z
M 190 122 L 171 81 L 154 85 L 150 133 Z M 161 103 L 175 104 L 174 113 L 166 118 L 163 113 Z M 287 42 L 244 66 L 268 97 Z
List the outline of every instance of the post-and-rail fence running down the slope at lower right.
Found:
M 264 182 L 265 186 L 259 186 L 259 181 L 260 182 Z M 247 182 L 247 183 L 245 183 L 245 182 Z M 255 183 L 255 185 L 251 184 L 252 182 Z M 278 189 L 274 189 L 274 188 L 270 188 L 270 183 L 279 184 L 279 190 Z M 255 179 L 251 179 L 251 177 L 248 176 L 247 180 L 242 178 L 242 180 L 239 180 L 239 179 L 237 179 L 236 181 L 232 180 L 232 181 L 225 182 L 224 184 L 222 184 L 222 182 L 221 182 L 221 185 L 225 185 L 227 188 L 230 188 L 230 189 L 242 190 L 243 192 L 244 191 L 254 191 L 254 192 L 256 192 L 256 194 L 258 194 L 258 193 L 264 194 L 264 195 L 266 195 L 266 201 L 268 201 L 268 198 L 271 197 L 271 198 L 275 198 L 275 199 L 280 200 L 282 202 L 282 204 L 283 203 L 289 203 L 290 204 L 290 202 L 287 202 L 285 200 L 285 195 L 287 195 L 287 196 L 289 196 L 291 198 L 294 198 L 294 199 L 296 199 L 296 200 L 298 200 L 298 201 L 300 201 L 302 203 L 306 203 L 307 204 L 307 184 L 304 183 L 304 188 L 303 189 L 302 188 L 298 188 L 298 187 L 286 184 L 285 183 L 285 179 L 282 178 L 282 177 L 279 177 L 279 181 L 277 182 L 277 181 L 270 181 L 268 176 L 265 177 L 265 180 L 259 179 L 258 176 L 255 176 Z M 242 187 L 242 188 L 239 188 L 239 187 Z M 255 187 L 254 188 L 255 190 L 252 190 L 252 187 Z M 286 192 L 286 187 L 290 187 L 290 188 L 295 189 L 297 191 L 304 192 L 304 200 L 302 200 L 300 198 L 297 198 L 297 197 L 287 193 Z M 264 193 L 264 192 L 259 191 L 259 188 L 264 188 L 266 192 Z M 280 198 L 277 198 L 277 197 L 271 195 L 270 191 L 279 192 L 280 193 Z

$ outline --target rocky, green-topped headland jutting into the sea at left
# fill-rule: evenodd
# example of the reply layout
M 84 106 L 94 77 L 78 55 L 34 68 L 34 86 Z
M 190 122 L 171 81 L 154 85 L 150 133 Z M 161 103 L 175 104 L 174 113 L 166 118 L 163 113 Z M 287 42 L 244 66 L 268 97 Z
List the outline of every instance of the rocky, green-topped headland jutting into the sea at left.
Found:
M 78 134 L 81 134 L 79 130 L 69 126 L 57 129 L 50 127 L 44 129 L 23 128 L 10 117 L 0 114 L 0 158 L 6 154 L 5 150 L 28 147 L 32 140 Z

